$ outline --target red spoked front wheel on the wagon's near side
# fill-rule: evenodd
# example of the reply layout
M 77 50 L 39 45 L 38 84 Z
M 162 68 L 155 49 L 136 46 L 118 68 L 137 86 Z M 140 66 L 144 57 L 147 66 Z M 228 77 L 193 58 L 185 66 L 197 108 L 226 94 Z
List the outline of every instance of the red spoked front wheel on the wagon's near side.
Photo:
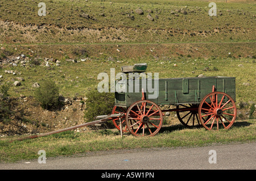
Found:
M 129 107 L 125 117 L 127 129 L 134 136 L 154 136 L 163 124 L 163 113 L 150 100 L 139 100 Z

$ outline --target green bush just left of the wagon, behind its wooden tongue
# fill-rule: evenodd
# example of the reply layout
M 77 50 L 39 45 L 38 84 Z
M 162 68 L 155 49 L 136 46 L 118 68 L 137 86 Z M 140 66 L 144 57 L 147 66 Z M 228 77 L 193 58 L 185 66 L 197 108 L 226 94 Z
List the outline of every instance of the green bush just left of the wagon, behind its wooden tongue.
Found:
M 115 103 L 115 96 L 112 92 L 89 91 L 86 95 L 85 118 L 88 122 L 93 121 L 94 117 L 108 115 L 112 112 Z

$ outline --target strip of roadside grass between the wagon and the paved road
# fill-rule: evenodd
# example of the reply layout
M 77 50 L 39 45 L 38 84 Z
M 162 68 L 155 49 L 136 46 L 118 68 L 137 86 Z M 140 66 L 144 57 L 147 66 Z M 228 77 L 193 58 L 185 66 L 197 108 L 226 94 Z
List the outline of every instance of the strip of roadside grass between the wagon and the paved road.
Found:
M 255 120 L 236 121 L 228 129 L 207 131 L 204 128 L 188 129 L 182 125 L 164 125 L 154 137 L 134 137 L 130 133 L 120 137 L 117 130 L 90 132 L 63 132 L 31 140 L 14 141 L 17 137 L 1 138 L 0 162 L 37 159 L 38 151 L 45 150 L 46 157 L 84 154 L 88 151 L 113 149 L 193 147 L 232 142 L 249 142 L 256 139 Z

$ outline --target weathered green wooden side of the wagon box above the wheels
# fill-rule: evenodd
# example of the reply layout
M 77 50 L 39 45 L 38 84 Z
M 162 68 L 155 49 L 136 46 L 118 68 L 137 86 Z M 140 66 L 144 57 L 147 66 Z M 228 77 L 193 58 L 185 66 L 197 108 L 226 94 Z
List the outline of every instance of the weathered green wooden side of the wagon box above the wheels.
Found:
M 126 91 L 115 92 L 115 106 L 129 107 L 142 99 L 142 88 L 145 99 L 158 105 L 199 104 L 205 95 L 214 91 L 225 92 L 236 101 L 236 78 L 234 77 L 195 77 L 146 79 L 126 81 Z M 155 82 L 156 81 L 156 82 Z M 116 82 L 116 85 L 120 82 Z M 145 86 L 146 85 L 146 86 Z M 155 86 L 158 85 L 158 86 Z

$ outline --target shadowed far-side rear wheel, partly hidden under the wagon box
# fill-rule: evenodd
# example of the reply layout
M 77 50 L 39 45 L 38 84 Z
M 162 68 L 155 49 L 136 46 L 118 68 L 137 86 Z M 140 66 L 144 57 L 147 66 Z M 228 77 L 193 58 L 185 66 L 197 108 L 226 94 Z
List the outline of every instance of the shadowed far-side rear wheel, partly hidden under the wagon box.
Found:
M 201 122 L 198 117 L 198 104 L 180 104 L 176 106 L 177 118 L 185 127 L 199 127 Z

